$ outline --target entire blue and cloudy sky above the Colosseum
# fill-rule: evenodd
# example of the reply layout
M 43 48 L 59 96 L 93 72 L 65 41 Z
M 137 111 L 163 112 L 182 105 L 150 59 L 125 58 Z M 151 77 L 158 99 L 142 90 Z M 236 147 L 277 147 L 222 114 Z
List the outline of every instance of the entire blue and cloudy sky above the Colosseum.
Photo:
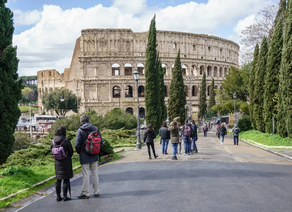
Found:
M 70 67 L 82 29 L 127 28 L 208 34 L 239 44 L 240 32 L 277 0 L 8 0 L 14 13 L 18 75 Z

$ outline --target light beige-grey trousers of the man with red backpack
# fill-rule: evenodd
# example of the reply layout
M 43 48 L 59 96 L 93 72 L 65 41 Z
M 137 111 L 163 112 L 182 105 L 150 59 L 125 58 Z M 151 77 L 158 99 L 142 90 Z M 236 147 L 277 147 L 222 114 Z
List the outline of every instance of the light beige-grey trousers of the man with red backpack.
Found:
M 89 196 L 89 171 L 92 176 L 93 194 L 99 193 L 99 180 L 97 174 L 97 161 L 92 163 L 81 164 L 82 168 L 82 193 Z

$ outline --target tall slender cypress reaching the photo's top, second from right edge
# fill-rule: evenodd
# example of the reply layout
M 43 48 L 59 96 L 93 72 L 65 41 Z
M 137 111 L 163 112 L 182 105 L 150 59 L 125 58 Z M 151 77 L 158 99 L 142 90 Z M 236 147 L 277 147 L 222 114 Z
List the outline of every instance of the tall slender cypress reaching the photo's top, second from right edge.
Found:
M 277 100 L 275 99 L 275 96 L 277 96 L 279 89 L 279 69 L 282 58 L 285 10 L 286 0 L 281 0 L 276 19 L 274 21 L 274 32 L 270 42 L 267 59 L 267 74 L 265 76 L 264 121 L 266 123 L 267 133 L 273 133 L 272 117 L 277 114 Z

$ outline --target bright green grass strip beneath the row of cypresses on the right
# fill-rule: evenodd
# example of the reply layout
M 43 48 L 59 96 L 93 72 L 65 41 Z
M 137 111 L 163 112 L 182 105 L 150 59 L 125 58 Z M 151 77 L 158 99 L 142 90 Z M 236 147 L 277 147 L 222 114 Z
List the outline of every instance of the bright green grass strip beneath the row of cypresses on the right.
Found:
M 239 139 L 248 139 L 267 146 L 292 146 L 291 138 L 275 135 L 275 140 L 273 140 L 273 134 L 261 133 L 255 130 L 239 133 Z

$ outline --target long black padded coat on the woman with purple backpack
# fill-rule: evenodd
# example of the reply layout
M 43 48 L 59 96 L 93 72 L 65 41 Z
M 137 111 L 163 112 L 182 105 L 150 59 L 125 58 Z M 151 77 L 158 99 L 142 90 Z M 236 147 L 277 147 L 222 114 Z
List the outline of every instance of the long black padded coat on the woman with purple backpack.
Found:
M 65 140 L 66 139 L 66 140 Z M 64 141 L 65 140 L 65 141 Z M 54 137 L 55 145 L 58 146 L 62 142 L 62 147 L 64 148 L 64 152 L 67 154 L 67 158 L 64 160 L 56 160 L 55 159 L 55 175 L 57 179 L 70 179 L 73 177 L 72 170 L 72 155 L 74 153 L 72 144 L 65 135 L 56 135 Z M 52 148 L 54 147 L 53 141 L 51 142 L 51 153 Z

